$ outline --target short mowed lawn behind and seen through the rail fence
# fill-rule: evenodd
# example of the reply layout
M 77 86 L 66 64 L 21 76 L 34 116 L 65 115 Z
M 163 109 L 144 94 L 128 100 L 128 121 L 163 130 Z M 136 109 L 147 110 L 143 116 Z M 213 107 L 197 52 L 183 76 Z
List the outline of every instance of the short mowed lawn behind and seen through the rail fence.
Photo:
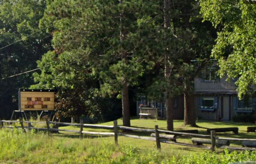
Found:
M 118 119 L 118 125 L 122 125 L 122 120 Z M 102 123 L 100 125 L 113 125 L 113 122 L 106 122 Z M 165 129 L 167 127 L 166 120 L 154 120 L 154 119 L 138 119 L 134 118 L 131 119 L 131 126 L 132 127 L 138 127 L 138 128 L 149 128 L 154 129 L 155 125 L 158 125 L 160 129 Z M 199 120 L 197 122 L 197 125 L 199 127 L 189 127 L 189 126 L 183 126 L 183 120 L 174 120 L 174 130 L 194 130 L 197 129 L 199 131 L 199 134 L 207 134 L 206 130 L 207 128 L 223 128 L 223 127 L 238 127 L 239 128 L 239 134 L 234 134 L 233 132 L 220 132 L 217 133 L 217 136 L 222 137 L 234 137 L 234 138 L 251 138 L 256 139 L 256 133 L 250 132 L 247 133 L 247 126 L 256 126 L 255 124 L 251 123 L 241 123 L 241 122 L 231 122 L 231 121 L 207 121 L 207 120 Z M 79 127 L 75 126 L 62 126 L 60 129 L 68 129 L 68 130 L 80 130 Z M 113 132 L 113 130 L 108 129 L 99 129 L 99 128 L 84 128 L 84 131 L 94 131 L 94 132 Z M 120 130 L 121 132 L 121 130 Z M 67 136 L 72 134 L 73 137 L 79 137 L 79 134 L 77 133 L 69 133 L 69 132 L 60 132 L 62 134 L 66 134 Z M 140 136 L 150 136 L 151 132 L 136 132 L 132 131 L 129 132 L 129 134 L 134 135 L 140 135 Z M 94 138 L 96 136 L 87 136 L 84 135 L 84 139 L 90 139 Z M 192 144 L 191 142 L 192 137 L 188 136 L 179 136 L 177 138 L 177 142 L 182 143 L 188 143 Z M 110 143 L 114 143 L 114 137 L 104 137 L 104 140 L 108 140 Z M 118 143 L 120 144 L 130 144 L 133 146 L 139 146 L 141 148 L 152 148 L 156 149 L 156 142 L 155 141 L 148 141 L 144 139 L 134 139 L 134 138 L 127 138 L 124 136 L 118 136 Z M 210 145 L 209 145 L 210 146 Z M 241 141 L 230 141 L 230 146 L 242 146 Z M 179 145 L 173 145 L 173 144 L 166 144 L 161 143 L 162 151 L 163 152 L 169 152 L 169 153 L 200 153 L 204 151 L 202 148 L 193 148 L 193 147 L 187 147 L 187 146 L 179 146 Z M 217 149 L 217 152 L 223 152 L 223 149 Z

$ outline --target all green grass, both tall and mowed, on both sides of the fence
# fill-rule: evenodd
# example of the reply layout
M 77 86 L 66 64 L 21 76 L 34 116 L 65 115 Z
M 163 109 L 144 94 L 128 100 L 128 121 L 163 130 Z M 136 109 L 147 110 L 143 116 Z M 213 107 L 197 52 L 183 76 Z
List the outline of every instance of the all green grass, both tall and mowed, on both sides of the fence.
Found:
M 199 121 L 200 128 L 184 127 L 182 120 L 174 121 L 175 130 L 198 129 L 200 134 L 206 134 L 206 128 L 238 127 L 239 134 L 233 132 L 218 133 L 217 136 L 255 138 L 255 133 L 247 133 L 248 123 Z M 33 125 L 33 124 L 32 124 Z M 113 125 L 113 122 L 101 125 Z M 122 120 L 118 120 L 122 125 Z M 158 125 L 166 129 L 166 121 L 137 119 L 131 120 L 134 127 L 153 129 Z M 79 130 L 79 127 L 62 126 L 60 129 Z M 84 128 L 84 131 L 111 132 L 106 129 Z M 149 136 L 147 132 L 132 132 L 133 134 Z M 191 137 L 179 137 L 178 142 L 191 144 Z M 231 145 L 241 146 L 241 143 Z M 118 137 L 118 144 L 114 144 L 114 137 L 85 136 L 79 139 L 79 133 L 60 132 L 48 136 L 46 132 L 27 132 L 20 130 L 0 130 L 0 163 L 228 163 L 231 161 L 256 160 L 256 151 L 216 153 L 201 148 L 161 143 L 161 151 L 156 149 L 155 141 Z M 229 151 L 231 152 L 231 151 Z

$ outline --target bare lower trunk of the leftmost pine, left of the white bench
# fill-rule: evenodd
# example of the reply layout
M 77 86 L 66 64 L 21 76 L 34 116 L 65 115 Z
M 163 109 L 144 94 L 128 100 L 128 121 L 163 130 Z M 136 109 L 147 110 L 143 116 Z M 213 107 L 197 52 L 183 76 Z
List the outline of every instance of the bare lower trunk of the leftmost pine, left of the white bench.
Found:
M 130 109 L 129 109 L 129 91 L 126 82 L 122 88 L 122 109 L 123 109 L 123 125 L 131 126 Z

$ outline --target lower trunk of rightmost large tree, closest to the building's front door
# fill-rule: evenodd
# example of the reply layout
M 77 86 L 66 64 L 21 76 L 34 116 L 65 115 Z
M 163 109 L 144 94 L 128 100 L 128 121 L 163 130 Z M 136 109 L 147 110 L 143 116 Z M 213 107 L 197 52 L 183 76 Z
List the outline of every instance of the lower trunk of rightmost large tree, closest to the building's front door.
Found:
M 184 125 L 196 126 L 193 93 L 184 92 Z

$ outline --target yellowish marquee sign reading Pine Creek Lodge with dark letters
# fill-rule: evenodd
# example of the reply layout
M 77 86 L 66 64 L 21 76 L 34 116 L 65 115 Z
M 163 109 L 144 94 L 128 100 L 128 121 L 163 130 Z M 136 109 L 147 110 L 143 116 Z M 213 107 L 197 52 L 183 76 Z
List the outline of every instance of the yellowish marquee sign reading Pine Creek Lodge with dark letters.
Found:
M 20 111 L 53 111 L 54 90 L 49 89 L 20 89 Z

